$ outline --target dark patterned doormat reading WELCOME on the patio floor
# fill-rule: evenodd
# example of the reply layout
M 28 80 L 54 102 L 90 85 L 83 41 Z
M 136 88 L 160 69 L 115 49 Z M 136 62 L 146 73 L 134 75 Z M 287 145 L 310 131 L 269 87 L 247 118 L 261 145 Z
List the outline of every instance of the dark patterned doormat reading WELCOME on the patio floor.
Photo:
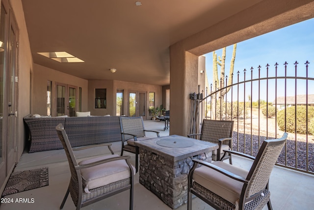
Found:
M 2 196 L 48 185 L 48 167 L 13 172 L 5 185 Z

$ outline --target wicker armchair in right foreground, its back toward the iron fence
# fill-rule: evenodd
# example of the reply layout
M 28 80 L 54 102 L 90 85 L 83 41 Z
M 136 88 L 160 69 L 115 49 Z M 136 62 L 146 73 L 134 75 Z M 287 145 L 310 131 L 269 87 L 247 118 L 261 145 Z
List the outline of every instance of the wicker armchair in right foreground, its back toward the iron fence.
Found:
M 265 140 L 256 158 L 227 151 L 253 159 L 249 171 L 223 161 L 208 163 L 193 160 L 194 165 L 188 175 L 188 210 L 192 209 L 192 194 L 214 209 L 262 210 L 267 204 L 271 210 L 268 180 L 287 136 L 284 133 L 282 138 Z

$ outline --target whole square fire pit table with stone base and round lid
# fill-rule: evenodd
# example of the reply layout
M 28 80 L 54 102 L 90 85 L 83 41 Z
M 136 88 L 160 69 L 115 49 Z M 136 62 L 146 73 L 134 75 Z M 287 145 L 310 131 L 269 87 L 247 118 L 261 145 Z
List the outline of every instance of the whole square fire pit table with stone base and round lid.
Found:
M 139 148 L 139 182 L 172 209 L 187 203 L 192 159 L 211 161 L 218 145 L 178 135 L 134 142 Z

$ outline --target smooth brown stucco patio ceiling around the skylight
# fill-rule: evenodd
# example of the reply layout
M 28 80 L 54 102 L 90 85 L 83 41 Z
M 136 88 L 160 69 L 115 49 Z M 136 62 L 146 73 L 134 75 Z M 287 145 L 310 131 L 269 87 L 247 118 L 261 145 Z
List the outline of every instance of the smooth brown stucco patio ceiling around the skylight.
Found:
M 87 80 L 154 85 L 170 82 L 170 45 L 259 1 L 22 0 L 34 63 Z M 58 51 L 85 62 L 37 54 Z

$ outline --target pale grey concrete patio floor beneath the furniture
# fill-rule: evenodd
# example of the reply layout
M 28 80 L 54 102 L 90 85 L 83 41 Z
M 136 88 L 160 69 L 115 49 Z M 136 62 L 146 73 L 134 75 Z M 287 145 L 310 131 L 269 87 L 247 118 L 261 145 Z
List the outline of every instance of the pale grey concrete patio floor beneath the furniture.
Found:
M 169 135 L 169 130 L 163 130 L 164 122 L 144 120 L 145 128 L 160 131 L 160 136 Z M 155 134 L 154 134 L 155 135 Z M 152 134 L 147 133 L 147 136 Z M 115 154 L 120 154 L 121 142 L 113 142 L 112 149 Z M 102 148 L 88 149 L 84 152 L 77 151 L 78 159 L 86 159 L 97 156 L 109 150 Z M 135 163 L 135 156 L 131 156 L 131 163 Z M 249 168 L 252 161 L 234 157 L 234 165 Z M 33 198 L 33 203 L 1 203 L 0 210 L 58 210 L 62 202 L 70 180 L 70 170 L 64 150 L 51 150 L 35 153 L 25 152 L 14 171 L 24 171 L 40 167 L 49 168 L 49 186 L 40 187 L 20 193 L 11 194 L 4 198 Z M 270 177 L 271 203 L 274 210 L 310 210 L 314 206 L 314 176 L 292 171 L 275 166 Z M 127 210 L 129 208 L 129 191 L 109 197 L 82 208 L 82 210 Z M 198 198 L 193 199 L 193 210 L 212 210 L 209 205 Z M 69 196 L 64 210 L 75 210 L 75 206 Z M 187 205 L 177 210 L 186 210 Z M 264 207 L 267 209 L 267 207 Z M 157 198 L 138 182 L 138 173 L 134 177 L 134 210 L 171 210 L 166 204 Z

